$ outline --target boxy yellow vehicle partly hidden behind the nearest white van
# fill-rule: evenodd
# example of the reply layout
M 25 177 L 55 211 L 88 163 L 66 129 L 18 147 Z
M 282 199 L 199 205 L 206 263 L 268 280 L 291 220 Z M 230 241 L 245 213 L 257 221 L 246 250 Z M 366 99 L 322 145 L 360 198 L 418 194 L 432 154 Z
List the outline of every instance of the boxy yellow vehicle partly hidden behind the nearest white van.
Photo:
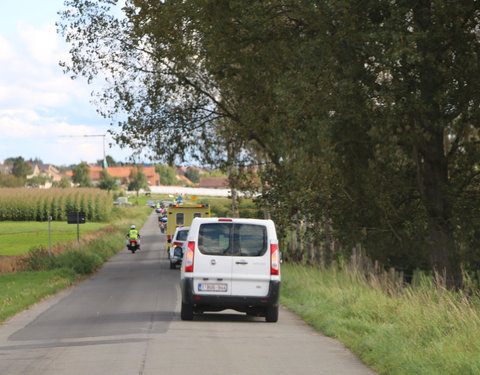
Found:
M 167 253 L 178 227 L 189 227 L 196 217 L 210 217 L 207 204 L 170 204 L 167 207 Z

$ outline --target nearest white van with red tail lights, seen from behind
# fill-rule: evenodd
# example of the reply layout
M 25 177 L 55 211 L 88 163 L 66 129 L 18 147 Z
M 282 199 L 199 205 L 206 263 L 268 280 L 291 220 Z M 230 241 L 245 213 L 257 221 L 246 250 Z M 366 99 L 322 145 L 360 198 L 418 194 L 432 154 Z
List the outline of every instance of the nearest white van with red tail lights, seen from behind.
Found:
M 224 309 L 278 320 L 280 252 L 272 220 L 194 219 L 180 275 L 182 320 Z

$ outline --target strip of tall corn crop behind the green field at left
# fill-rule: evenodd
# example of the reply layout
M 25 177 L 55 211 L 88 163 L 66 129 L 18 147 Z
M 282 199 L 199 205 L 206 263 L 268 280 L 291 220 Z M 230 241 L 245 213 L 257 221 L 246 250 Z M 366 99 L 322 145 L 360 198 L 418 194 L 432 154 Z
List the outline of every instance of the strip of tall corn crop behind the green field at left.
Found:
M 103 222 L 112 205 L 111 195 L 94 188 L 0 188 L 0 221 L 64 221 L 68 212 L 80 211 L 88 221 Z

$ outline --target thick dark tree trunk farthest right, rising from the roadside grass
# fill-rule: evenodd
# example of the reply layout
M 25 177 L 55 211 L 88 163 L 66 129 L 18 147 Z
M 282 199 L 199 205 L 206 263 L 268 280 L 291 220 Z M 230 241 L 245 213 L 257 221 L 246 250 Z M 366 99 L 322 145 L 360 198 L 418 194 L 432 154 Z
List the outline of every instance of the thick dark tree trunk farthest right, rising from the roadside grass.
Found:
M 426 34 L 434 29 L 430 1 L 418 2 L 412 17 L 419 33 Z M 447 288 L 457 288 L 462 281 L 451 222 L 448 157 L 444 144 L 447 126 L 445 113 L 436 97 L 445 90 L 444 77 L 432 74 L 432 56 L 437 56 L 436 47 L 425 39 L 419 39 L 416 45 L 421 57 L 415 68 L 419 88 L 416 100 L 421 103 L 422 110 L 413 116 L 412 124 L 422 130 L 422 135 L 414 146 L 414 156 L 418 189 L 428 217 L 432 271 L 437 283 L 445 282 Z

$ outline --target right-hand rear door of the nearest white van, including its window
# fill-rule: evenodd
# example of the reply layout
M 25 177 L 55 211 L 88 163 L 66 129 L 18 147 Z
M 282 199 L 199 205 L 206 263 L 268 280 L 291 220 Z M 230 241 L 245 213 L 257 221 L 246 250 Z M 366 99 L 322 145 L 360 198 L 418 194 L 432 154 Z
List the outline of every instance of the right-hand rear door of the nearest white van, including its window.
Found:
M 270 250 L 265 225 L 235 223 L 232 233 L 232 295 L 264 297 L 270 285 Z

